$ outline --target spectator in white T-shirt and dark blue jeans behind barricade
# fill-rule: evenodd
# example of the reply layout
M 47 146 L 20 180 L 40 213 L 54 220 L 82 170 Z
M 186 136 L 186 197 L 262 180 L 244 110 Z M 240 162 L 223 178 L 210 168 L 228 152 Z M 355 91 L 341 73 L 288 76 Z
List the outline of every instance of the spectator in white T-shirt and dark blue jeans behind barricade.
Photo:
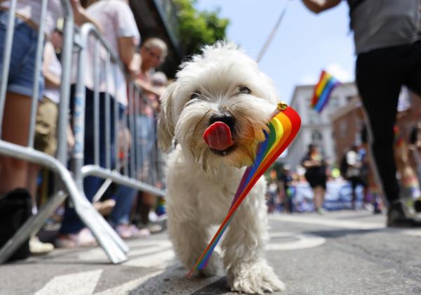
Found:
M 138 27 L 135 22 L 133 12 L 128 5 L 127 0 L 98 0 L 89 1 L 88 4 L 83 3 L 86 6 L 86 13 L 93 18 L 99 25 L 102 36 L 108 42 L 109 46 L 112 47 L 114 52 L 118 53 L 121 62 L 124 67 L 128 69 L 130 67 L 133 57 L 135 56 L 135 48 L 140 42 L 140 34 Z M 93 56 L 95 52 L 94 42 L 88 42 L 88 54 L 86 67 L 83 69 L 86 72 L 85 85 L 86 91 L 86 107 L 85 107 L 85 138 L 84 138 L 84 162 L 83 164 L 94 163 L 94 126 L 95 122 L 93 119 L 94 110 L 94 81 L 93 81 Z M 106 60 L 104 56 L 100 56 L 100 65 L 102 69 L 105 67 Z M 112 74 L 112 73 L 115 73 Z M 109 122 L 111 134 L 109 134 L 109 145 L 110 149 L 114 150 L 115 138 L 114 138 L 114 100 L 119 103 L 119 114 L 118 117 L 123 117 L 123 112 L 126 110 L 128 105 L 127 99 L 127 86 L 124 72 L 121 70 L 119 65 L 113 64 L 111 70 L 108 73 L 100 74 L 100 106 L 99 106 L 99 117 L 100 126 L 105 126 L 107 120 L 106 108 L 107 100 L 106 96 L 110 96 L 109 100 L 109 116 L 111 118 Z M 74 98 L 76 87 L 73 85 L 71 91 L 71 110 L 74 106 Z M 72 110 L 73 111 L 73 110 Z M 99 164 L 105 167 L 107 164 L 106 159 L 106 145 L 105 140 L 107 138 L 105 131 L 100 129 L 100 159 Z M 114 159 L 114 152 L 110 153 L 110 166 L 114 166 L 116 159 Z M 99 190 L 103 183 L 101 178 L 95 176 L 87 176 L 83 180 L 83 190 L 86 198 L 91 202 L 95 193 Z M 117 206 L 117 204 L 116 204 Z M 58 247 L 80 247 L 89 246 L 95 244 L 95 239 L 91 232 L 84 228 L 84 224 L 76 214 L 76 211 L 71 206 L 66 206 L 65 214 L 63 216 L 62 225 L 60 228 L 59 235 L 55 240 L 55 244 Z

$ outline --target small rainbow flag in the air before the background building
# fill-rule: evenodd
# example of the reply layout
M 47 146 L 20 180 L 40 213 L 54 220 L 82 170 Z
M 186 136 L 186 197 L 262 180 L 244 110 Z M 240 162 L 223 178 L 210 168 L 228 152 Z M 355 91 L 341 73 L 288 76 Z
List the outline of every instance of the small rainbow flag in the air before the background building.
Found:
M 319 83 L 314 86 L 314 94 L 312 98 L 311 107 L 316 112 L 321 112 L 327 105 L 330 93 L 340 84 L 340 81 L 335 79 L 331 74 L 325 70 L 321 71 Z

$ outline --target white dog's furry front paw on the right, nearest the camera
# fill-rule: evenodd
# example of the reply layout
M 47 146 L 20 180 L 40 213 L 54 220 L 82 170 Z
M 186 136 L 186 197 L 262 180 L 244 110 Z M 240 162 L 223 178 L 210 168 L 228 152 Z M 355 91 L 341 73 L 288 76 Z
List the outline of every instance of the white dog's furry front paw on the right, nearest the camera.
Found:
M 266 263 L 244 263 L 229 272 L 228 282 L 232 291 L 263 294 L 265 291 L 282 291 L 285 285 Z

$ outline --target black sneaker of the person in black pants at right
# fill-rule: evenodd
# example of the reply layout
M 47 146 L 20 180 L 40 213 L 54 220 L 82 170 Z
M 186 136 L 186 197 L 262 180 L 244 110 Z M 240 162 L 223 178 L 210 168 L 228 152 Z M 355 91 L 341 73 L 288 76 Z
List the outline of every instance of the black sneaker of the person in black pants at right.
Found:
M 387 226 L 389 228 L 421 228 L 421 219 L 406 211 L 401 201 L 389 206 L 387 211 Z

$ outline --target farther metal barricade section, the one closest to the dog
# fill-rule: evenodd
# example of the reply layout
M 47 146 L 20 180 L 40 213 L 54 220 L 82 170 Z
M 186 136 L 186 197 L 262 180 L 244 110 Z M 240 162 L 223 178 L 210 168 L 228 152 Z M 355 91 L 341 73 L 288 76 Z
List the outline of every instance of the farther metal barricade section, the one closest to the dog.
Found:
M 98 29 L 92 24 L 85 24 L 81 27 L 80 35 L 79 35 L 78 45 L 80 47 L 79 51 L 79 58 L 78 58 L 78 65 L 77 65 L 77 81 L 76 81 L 76 96 L 75 96 L 75 111 L 74 111 L 74 131 L 75 131 L 75 141 L 76 141 L 76 149 L 74 150 L 74 178 L 76 183 L 79 184 L 79 188 L 83 183 L 83 178 L 86 176 L 96 176 L 99 178 L 105 178 L 107 180 L 111 180 L 114 183 L 119 185 L 126 185 L 131 188 L 135 188 L 137 190 L 142 190 L 144 192 L 150 192 L 157 196 L 164 196 L 165 192 L 159 188 L 156 188 L 155 183 L 156 180 L 152 179 L 152 181 L 148 181 L 148 183 L 142 179 L 142 164 L 145 164 L 145 159 L 142 158 L 142 144 L 139 143 L 140 138 L 140 131 L 136 128 L 135 124 L 135 117 L 138 116 L 138 103 L 139 100 L 142 99 L 142 91 L 140 88 L 135 84 L 135 81 L 128 80 L 128 109 L 129 113 L 123 116 L 123 119 L 120 121 L 118 118 L 118 103 L 116 100 L 116 96 L 114 96 L 114 130 L 111 130 L 109 121 L 107 118 L 110 117 L 111 110 L 109 110 L 109 94 L 106 93 L 105 99 L 107 102 L 105 103 L 105 145 L 106 145 L 106 165 L 105 167 L 100 166 L 99 164 L 99 152 L 100 152 L 100 138 L 99 138 L 99 130 L 104 126 L 100 126 L 99 124 L 99 114 L 98 114 L 98 80 L 99 74 L 101 70 L 105 70 L 106 75 L 112 74 L 114 76 L 114 80 L 116 81 L 116 71 L 111 69 L 111 65 L 117 65 L 124 69 L 121 61 L 119 60 L 119 56 L 116 55 L 113 48 L 109 46 L 107 41 L 102 38 Z M 90 37 L 95 38 L 95 58 L 93 58 L 94 63 L 94 81 L 96 84 L 94 89 L 94 114 L 93 117 L 95 118 L 95 129 L 94 129 L 94 164 L 83 165 L 83 136 L 85 131 L 84 126 L 84 105 L 85 105 L 85 86 L 84 86 L 84 79 L 85 79 L 85 71 L 83 70 L 84 65 L 87 62 L 87 49 L 88 49 L 88 39 Z M 107 52 L 105 57 L 105 69 L 100 69 L 98 63 L 98 55 L 100 46 L 105 49 Z M 97 70 L 98 69 L 98 70 Z M 115 67 L 114 67 L 115 69 Z M 109 79 L 105 79 L 106 84 L 108 84 Z M 109 89 L 107 85 L 106 89 Z M 117 89 L 117 87 L 115 87 Z M 145 103 L 147 103 L 145 101 Z M 77 108 L 76 108 L 77 107 Z M 120 122 L 119 122 L 120 121 Z M 132 144 L 130 148 L 130 157 L 127 154 L 124 155 L 123 159 L 119 157 L 119 124 L 123 124 L 123 128 L 130 130 L 132 136 Z M 114 150 L 111 150 L 111 133 L 114 133 L 115 144 Z M 124 138 L 124 137 L 123 137 Z M 126 140 L 123 140 L 126 141 Z M 128 150 L 128 142 L 123 142 L 124 148 L 123 150 Z M 111 164 L 111 153 L 114 153 L 115 164 L 112 167 Z M 152 165 L 151 165 L 152 166 Z M 130 168 L 130 169 L 129 169 Z M 156 171 L 157 166 L 154 165 L 154 169 L 152 171 Z M 122 171 L 121 171 L 122 170 Z M 151 171 L 151 172 L 152 172 Z

